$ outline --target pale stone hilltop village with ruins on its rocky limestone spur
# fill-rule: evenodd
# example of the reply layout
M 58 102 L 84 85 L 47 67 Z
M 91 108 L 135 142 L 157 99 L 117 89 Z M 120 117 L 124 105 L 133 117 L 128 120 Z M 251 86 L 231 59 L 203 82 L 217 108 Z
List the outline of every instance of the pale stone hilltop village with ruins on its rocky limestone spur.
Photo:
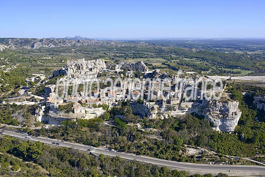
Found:
M 148 70 L 143 62 L 112 64 L 105 62 L 104 59 L 70 60 L 60 70 L 54 70 L 51 76 L 51 78 L 61 78 L 61 80 L 66 80 L 67 77 L 73 80 L 88 78 L 91 81 L 97 79 L 99 87 L 94 83 L 91 92 L 86 93 L 83 92 L 83 88 L 76 88 L 77 92 L 72 95 L 72 82 L 67 87 L 67 94 L 63 98 L 58 98 L 58 95 L 62 95 L 63 88 L 61 86 L 63 84 L 54 84 L 47 85 L 44 88 L 44 94 L 40 95 L 41 97 L 28 95 L 28 97 L 38 99 L 39 105 L 36 116 L 39 122 L 59 125 L 63 120 L 100 117 L 106 110 L 119 107 L 122 102 L 127 102 L 132 108 L 132 113 L 140 118 L 166 119 L 169 116 L 174 117 L 191 113 L 208 119 L 213 123 L 215 130 L 224 132 L 233 132 L 241 115 L 237 101 L 222 101 L 224 100 L 223 97 L 219 101 L 201 98 L 202 95 L 210 95 L 213 89 L 207 88 L 202 93 L 198 88 L 199 86 L 194 85 L 191 81 L 177 84 L 174 80 L 178 77 L 177 75 L 160 72 L 159 69 Z M 138 82 L 123 83 L 124 85 L 117 82 L 117 85 L 112 87 L 104 85 L 106 80 L 110 78 L 115 80 L 118 77 L 129 80 L 137 78 Z M 191 77 L 197 81 L 207 80 L 206 76 L 193 75 L 192 73 L 182 73 L 180 77 Z M 37 79 L 39 78 L 40 76 Z M 151 78 L 150 83 L 144 81 L 146 78 Z M 166 83 L 166 86 L 171 86 L 170 89 L 165 89 L 167 87 L 161 89 L 160 81 L 165 78 L 172 78 L 170 82 Z M 139 84 L 142 84 L 140 89 L 137 87 Z M 165 86 L 165 83 L 163 86 Z M 190 91 L 180 92 L 180 90 L 185 90 L 187 87 L 193 89 L 196 87 L 197 90 L 190 100 L 185 100 L 185 96 L 190 94 Z M 222 94 L 223 91 L 224 88 L 217 90 L 219 94 Z M 122 119 L 124 115 L 117 114 L 116 117 Z M 133 125 L 141 128 L 140 123 L 134 123 Z

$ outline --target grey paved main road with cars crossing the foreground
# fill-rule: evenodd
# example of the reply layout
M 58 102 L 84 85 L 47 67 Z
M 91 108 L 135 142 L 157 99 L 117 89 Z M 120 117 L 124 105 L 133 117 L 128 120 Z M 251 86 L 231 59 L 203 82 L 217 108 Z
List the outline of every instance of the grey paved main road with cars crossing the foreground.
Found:
M 11 135 L 18 138 L 25 138 L 26 135 L 4 131 L 2 132 L 7 135 Z M 227 174 L 237 174 L 240 176 L 243 175 L 262 175 L 265 176 L 265 167 L 263 166 L 243 166 L 243 165 L 207 165 L 207 164 L 195 164 L 195 163 L 182 163 L 182 162 L 175 162 L 175 161 L 168 161 L 158 158 L 151 158 L 146 156 L 136 156 L 134 154 L 129 153 L 120 153 L 120 152 L 110 152 L 109 150 L 102 149 L 102 148 L 89 148 L 86 145 L 81 145 L 77 143 L 69 143 L 69 142 L 57 142 L 55 139 L 46 139 L 44 137 L 33 137 L 33 141 L 40 141 L 42 143 L 52 144 L 52 142 L 59 143 L 58 146 L 64 146 L 69 148 L 75 148 L 79 150 L 86 151 L 87 149 L 90 149 L 92 153 L 94 154 L 103 154 L 106 156 L 120 156 L 124 159 L 129 160 L 136 160 L 144 163 L 152 163 L 155 165 L 161 165 L 161 166 L 168 166 L 172 168 L 177 168 L 180 170 L 186 170 L 186 171 L 197 171 L 197 172 L 218 172 L 218 173 L 227 173 Z

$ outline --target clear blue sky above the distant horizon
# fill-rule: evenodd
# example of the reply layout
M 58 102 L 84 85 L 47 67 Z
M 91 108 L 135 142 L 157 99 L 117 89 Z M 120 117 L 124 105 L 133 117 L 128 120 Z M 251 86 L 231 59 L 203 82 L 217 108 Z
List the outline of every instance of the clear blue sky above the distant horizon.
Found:
M 0 37 L 265 37 L 265 1 L 0 1 Z

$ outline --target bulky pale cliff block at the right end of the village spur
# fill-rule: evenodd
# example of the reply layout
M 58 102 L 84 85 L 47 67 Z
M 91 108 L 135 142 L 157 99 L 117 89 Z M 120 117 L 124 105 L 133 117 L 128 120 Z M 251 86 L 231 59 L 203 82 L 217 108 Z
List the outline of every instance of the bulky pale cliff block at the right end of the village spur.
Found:
M 238 101 L 203 101 L 202 104 L 196 105 L 196 109 L 193 108 L 193 110 L 212 122 L 215 130 L 233 132 L 241 116 L 238 104 Z

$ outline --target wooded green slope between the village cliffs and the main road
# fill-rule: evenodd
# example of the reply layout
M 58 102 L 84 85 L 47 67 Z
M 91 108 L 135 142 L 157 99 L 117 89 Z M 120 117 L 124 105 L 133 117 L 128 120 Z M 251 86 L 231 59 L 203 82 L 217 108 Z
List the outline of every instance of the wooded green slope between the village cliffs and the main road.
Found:
M 103 119 L 100 118 L 78 119 L 76 122 L 71 120 L 64 121 L 62 122 L 64 126 L 61 127 L 35 130 L 35 134 L 55 139 L 63 138 L 72 142 L 78 141 L 79 143 L 95 147 L 100 146 L 102 142 L 109 148 L 119 151 L 191 163 L 202 163 L 206 159 L 226 162 L 228 159 L 219 158 L 218 156 L 206 156 L 203 158 L 187 156 L 184 144 L 212 148 L 217 153 L 232 156 L 254 156 L 257 151 L 264 154 L 263 123 L 255 125 L 260 127 L 257 130 L 252 130 L 253 128 L 251 128 L 251 131 L 256 131 L 256 134 L 260 134 L 260 139 L 253 143 L 248 139 L 241 140 L 242 128 L 249 129 L 246 125 L 242 125 L 242 128 L 239 125 L 238 127 L 240 128 L 236 129 L 236 133 L 238 133 L 236 135 L 236 133 L 217 132 L 211 128 L 209 121 L 202 118 L 198 119 L 192 115 L 169 117 L 164 120 L 140 119 L 132 114 L 132 109 L 127 104 L 127 102 L 122 102 L 120 107 L 114 107 L 106 112 L 107 117 L 110 115 L 110 119 L 114 120 L 115 126 L 104 126 Z M 246 113 L 243 110 L 242 112 L 244 116 Z M 119 119 L 116 117 L 118 115 L 124 118 Z M 159 138 L 150 138 L 148 132 L 127 126 L 126 123 L 128 122 L 141 122 L 142 127 L 157 129 L 156 133 L 150 133 L 150 135 L 155 135 L 155 137 Z M 252 120 L 252 123 L 254 122 Z M 238 162 L 237 160 L 229 160 L 230 164 L 237 164 Z

